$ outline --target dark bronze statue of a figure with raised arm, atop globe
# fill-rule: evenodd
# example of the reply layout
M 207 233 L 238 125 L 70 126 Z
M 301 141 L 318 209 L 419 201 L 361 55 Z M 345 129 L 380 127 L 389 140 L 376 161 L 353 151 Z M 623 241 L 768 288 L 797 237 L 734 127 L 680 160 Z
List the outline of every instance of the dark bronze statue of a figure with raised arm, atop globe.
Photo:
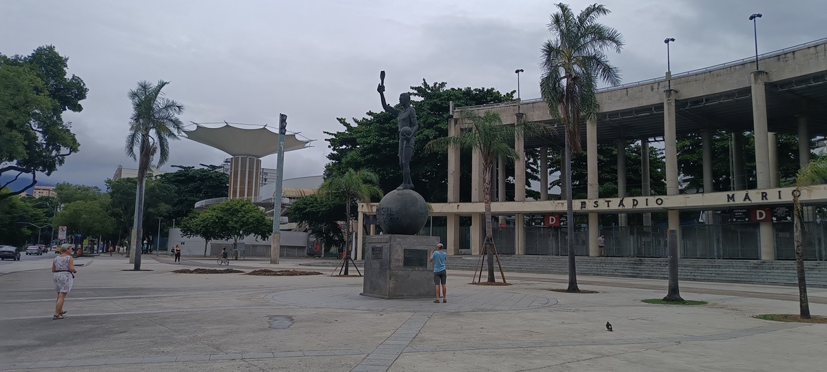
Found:
M 411 96 L 408 93 L 399 94 L 399 103 L 402 109 L 388 106 L 385 103 L 385 71 L 379 74 L 379 87 L 376 91 L 379 92 L 379 97 L 382 98 L 382 107 L 386 112 L 396 115 L 399 122 L 399 168 L 402 169 L 402 184 L 397 190 L 411 190 L 414 189 L 414 183 L 411 181 L 410 162 L 411 156 L 414 155 L 414 135 L 418 128 L 416 121 L 416 111 L 411 107 Z

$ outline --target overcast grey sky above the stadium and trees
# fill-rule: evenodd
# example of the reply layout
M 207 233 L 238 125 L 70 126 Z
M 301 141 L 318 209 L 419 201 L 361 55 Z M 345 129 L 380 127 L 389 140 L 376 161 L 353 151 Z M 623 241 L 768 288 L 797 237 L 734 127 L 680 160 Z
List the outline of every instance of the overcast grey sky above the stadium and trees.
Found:
M 580 12 L 589 2 L 572 1 Z M 769 52 L 827 36 L 824 0 L 606 0 L 602 21 L 623 33 L 620 55 L 609 55 L 624 83 L 662 76 L 663 39 L 674 37 L 678 73 L 754 55 L 753 23 L 760 12 L 758 50 Z M 540 46 L 554 2 L 432 1 L 73 1 L 2 0 L 0 53 L 28 55 L 55 45 L 69 73 L 84 79 L 84 111 L 65 120 L 80 152 L 45 183 L 103 187 L 124 155 L 131 113 L 127 91 L 139 80 L 170 81 L 167 97 L 184 103 L 186 122 L 277 126 L 313 147 L 285 155 L 285 178 L 321 174 L 327 163 L 323 131 L 337 117 L 381 109 L 379 71 L 395 103 L 422 79 L 449 87 L 515 90 L 540 96 Z M 171 144 L 169 165 L 220 164 L 226 154 L 183 139 Z M 275 168 L 275 155 L 263 159 Z

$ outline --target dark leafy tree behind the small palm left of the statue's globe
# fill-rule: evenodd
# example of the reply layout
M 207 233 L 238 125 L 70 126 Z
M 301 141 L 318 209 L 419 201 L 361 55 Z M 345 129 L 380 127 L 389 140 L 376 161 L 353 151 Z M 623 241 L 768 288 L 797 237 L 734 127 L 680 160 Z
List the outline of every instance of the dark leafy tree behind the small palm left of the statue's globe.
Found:
M 290 203 L 289 214 L 294 222 L 307 226 L 310 235 L 321 241 L 326 250 L 345 245 L 338 223 L 342 215 L 347 214 L 344 200 L 308 195 Z

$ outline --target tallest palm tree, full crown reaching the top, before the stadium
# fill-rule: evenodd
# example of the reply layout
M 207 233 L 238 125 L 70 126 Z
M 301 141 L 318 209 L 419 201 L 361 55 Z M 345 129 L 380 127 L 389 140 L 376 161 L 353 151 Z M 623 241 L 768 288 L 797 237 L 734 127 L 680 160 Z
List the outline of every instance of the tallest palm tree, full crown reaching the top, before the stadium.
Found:
M 571 152 L 581 150 L 580 119 L 596 117 L 598 107 L 595 89 L 597 80 L 616 85 L 619 71 L 609 64 L 605 49 L 620 52 L 623 36 L 614 28 L 602 25 L 597 18 L 609 14 L 603 5 L 586 7 L 575 16 L 568 5 L 557 4 L 548 31 L 557 39 L 543 45 L 543 77 L 540 91 L 548 104 L 548 112 L 566 128 L 565 163 L 571 164 Z M 596 149 L 589 149 L 596 150 Z M 574 259 L 574 212 L 571 206 L 571 167 L 566 167 L 566 224 L 569 264 L 567 292 L 580 292 Z

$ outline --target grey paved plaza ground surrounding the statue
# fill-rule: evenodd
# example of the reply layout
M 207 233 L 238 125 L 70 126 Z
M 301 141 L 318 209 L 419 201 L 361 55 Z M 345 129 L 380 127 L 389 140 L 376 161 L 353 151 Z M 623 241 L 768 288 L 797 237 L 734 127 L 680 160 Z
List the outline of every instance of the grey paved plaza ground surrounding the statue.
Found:
M 681 282 L 704 306 L 641 303 L 664 280 L 506 273 L 514 285 L 468 284 L 451 270 L 447 303 L 360 296 L 327 260 L 232 261 L 230 268 L 312 269 L 303 277 L 174 274 L 214 260 L 145 256 L 76 261 L 63 320 L 52 320 L 50 260 L 0 265 L 0 370 L 61 371 L 818 371 L 827 325 L 768 322 L 796 313 L 797 289 Z M 810 289 L 827 315 L 827 289 Z M 614 331 L 606 331 L 611 322 Z

